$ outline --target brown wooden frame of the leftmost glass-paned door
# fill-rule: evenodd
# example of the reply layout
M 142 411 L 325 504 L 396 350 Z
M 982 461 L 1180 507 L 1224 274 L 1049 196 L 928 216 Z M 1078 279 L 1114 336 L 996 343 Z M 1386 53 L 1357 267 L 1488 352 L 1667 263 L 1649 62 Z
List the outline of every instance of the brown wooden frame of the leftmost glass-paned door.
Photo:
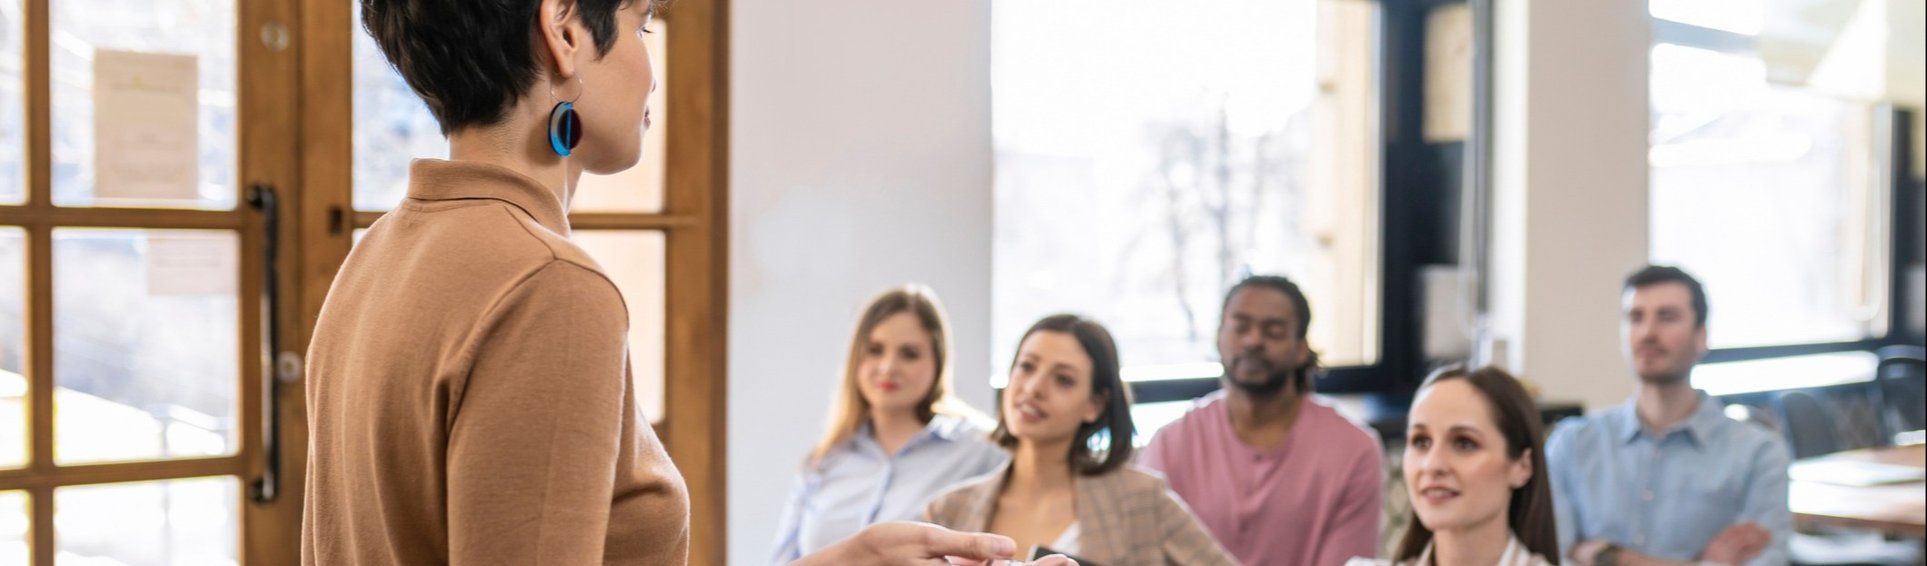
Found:
M 27 198 L 19 206 L 0 206 L 0 223 L 19 225 L 27 235 L 27 377 L 29 377 L 29 452 L 31 462 L 21 470 L 0 470 L 0 489 L 21 489 L 31 497 L 29 533 L 35 566 L 52 566 L 56 554 L 54 491 L 67 485 L 98 485 L 121 481 L 160 481 L 202 476 L 227 476 L 235 479 L 239 495 L 237 539 L 239 558 L 245 564 L 285 564 L 274 549 L 293 545 L 299 553 L 301 524 L 301 476 L 283 476 L 281 497 L 272 502 L 254 502 L 245 485 L 260 477 L 264 466 L 262 450 L 262 216 L 247 208 L 245 191 L 251 185 L 277 189 L 291 187 L 295 179 L 295 110 L 293 100 L 293 52 L 287 35 L 262 35 L 260 31 L 295 29 L 293 0 L 264 0 L 235 4 L 235 102 L 237 102 L 237 146 L 235 146 L 235 208 L 233 210 L 154 210 L 154 208 L 64 208 L 52 202 L 52 12 L 50 0 L 23 0 L 23 112 L 25 112 L 25 187 Z M 285 191 L 283 191 L 285 194 Z M 287 218 L 283 229 L 297 219 Z M 156 462 L 110 462 L 73 464 L 54 462 L 54 244 L 56 227 L 123 227 L 123 229 L 214 229 L 233 231 L 239 241 L 235 273 L 237 289 L 237 447 L 231 456 L 212 458 L 173 458 Z M 285 241 L 285 239 L 283 239 Z M 283 254 L 283 262 L 291 258 Z M 283 302 L 283 308 L 291 304 Z M 291 318 L 283 318 L 291 320 Z M 299 399 L 299 387 L 283 389 L 281 399 Z M 301 439 L 306 433 L 297 427 L 283 427 L 283 441 Z M 293 454 L 299 458 L 301 454 Z M 299 464 L 297 464 L 299 466 Z M 301 470 L 301 468 L 289 468 Z M 285 539 L 281 531 L 293 526 L 297 539 Z

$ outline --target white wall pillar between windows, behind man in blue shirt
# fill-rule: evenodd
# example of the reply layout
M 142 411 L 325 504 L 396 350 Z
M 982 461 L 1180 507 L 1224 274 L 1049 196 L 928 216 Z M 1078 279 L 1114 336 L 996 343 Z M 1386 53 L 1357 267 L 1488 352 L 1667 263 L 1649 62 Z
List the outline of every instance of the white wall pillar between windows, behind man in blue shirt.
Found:
M 1648 258 L 1646 2 L 1499 0 L 1491 329 L 1590 410 L 1632 393 L 1619 285 Z

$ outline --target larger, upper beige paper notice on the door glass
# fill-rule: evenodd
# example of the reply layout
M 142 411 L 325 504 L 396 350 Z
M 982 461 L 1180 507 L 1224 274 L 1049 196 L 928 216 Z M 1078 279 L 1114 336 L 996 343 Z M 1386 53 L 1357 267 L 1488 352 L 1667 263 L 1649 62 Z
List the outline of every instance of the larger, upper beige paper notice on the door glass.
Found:
M 195 200 L 195 56 L 94 50 L 94 198 Z

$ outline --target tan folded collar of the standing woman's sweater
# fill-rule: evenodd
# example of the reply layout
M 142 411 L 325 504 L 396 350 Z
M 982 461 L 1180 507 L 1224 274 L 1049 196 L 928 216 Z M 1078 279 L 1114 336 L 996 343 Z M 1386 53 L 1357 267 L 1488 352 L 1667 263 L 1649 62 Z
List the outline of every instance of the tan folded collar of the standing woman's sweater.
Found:
M 568 237 L 568 214 L 555 191 L 528 175 L 474 162 L 414 160 L 409 166 L 409 198 L 464 200 L 493 198 L 509 202 L 534 218 L 541 227 Z

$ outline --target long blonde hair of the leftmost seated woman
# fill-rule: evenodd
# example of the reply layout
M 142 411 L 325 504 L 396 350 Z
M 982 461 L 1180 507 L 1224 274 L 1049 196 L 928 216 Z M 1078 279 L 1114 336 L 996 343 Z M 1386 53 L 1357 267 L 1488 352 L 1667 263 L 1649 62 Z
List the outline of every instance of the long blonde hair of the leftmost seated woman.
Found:
M 823 462 L 823 456 L 831 449 L 856 435 L 863 427 L 863 420 L 869 418 L 869 400 L 863 399 L 863 391 L 858 387 L 856 370 L 863 362 L 863 347 L 869 343 L 869 333 L 900 312 L 913 314 L 923 331 L 931 335 L 931 360 L 937 362 L 937 379 L 931 381 L 931 391 L 917 402 L 917 420 L 929 424 L 937 414 L 977 416 L 975 410 L 950 395 L 950 318 L 944 316 L 944 304 L 937 300 L 937 291 L 921 283 L 896 287 L 871 298 L 869 306 L 863 308 L 863 316 L 858 318 L 856 333 L 850 335 L 850 350 L 844 356 L 842 379 L 831 400 L 829 424 L 825 425 L 823 439 L 809 452 L 809 466 Z

